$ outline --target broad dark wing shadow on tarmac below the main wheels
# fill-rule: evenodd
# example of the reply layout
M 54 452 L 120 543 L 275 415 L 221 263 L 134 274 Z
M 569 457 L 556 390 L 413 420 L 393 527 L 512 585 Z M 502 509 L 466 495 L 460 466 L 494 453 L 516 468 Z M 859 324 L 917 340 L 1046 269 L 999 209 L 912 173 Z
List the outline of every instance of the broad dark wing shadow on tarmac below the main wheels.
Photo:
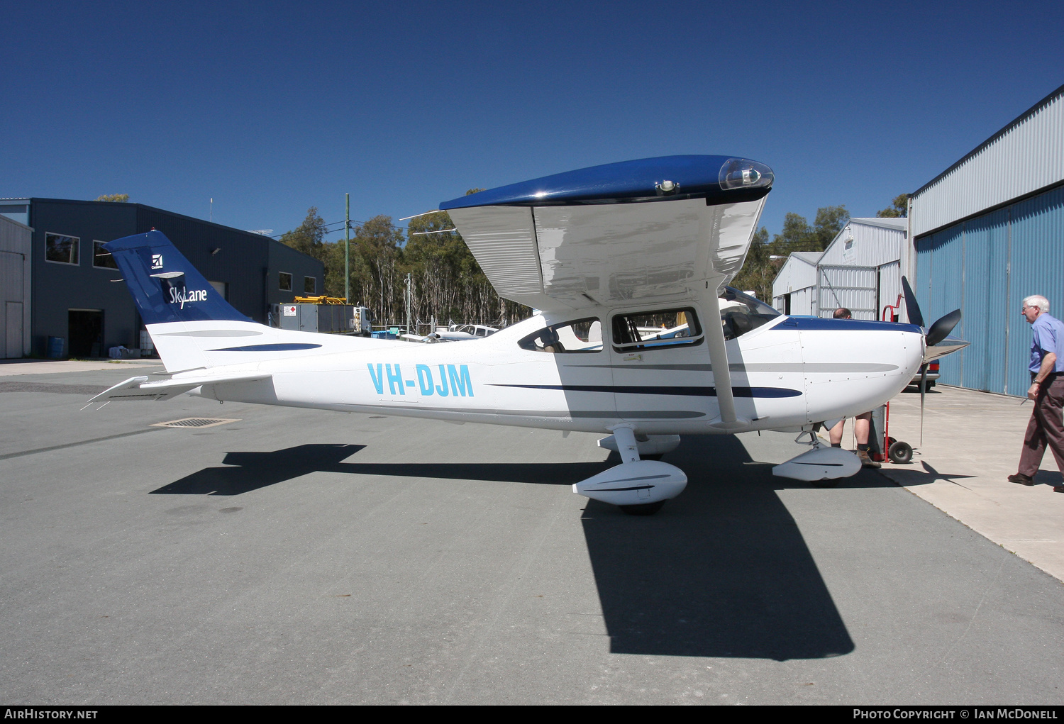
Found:
M 685 438 L 666 457 L 689 484 L 656 516 L 596 501 L 584 511 L 611 651 L 781 661 L 853 651 L 771 466 L 751 465 L 731 435 Z

